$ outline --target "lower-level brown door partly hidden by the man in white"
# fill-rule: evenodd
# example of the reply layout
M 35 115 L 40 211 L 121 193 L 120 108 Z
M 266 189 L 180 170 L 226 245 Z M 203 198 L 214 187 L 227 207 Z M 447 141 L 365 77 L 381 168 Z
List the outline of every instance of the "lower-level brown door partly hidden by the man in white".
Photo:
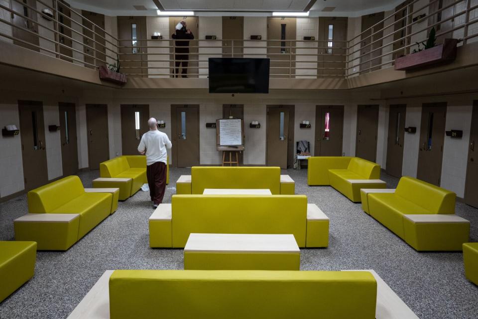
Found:
M 141 136 L 149 131 L 149 105 L 121 104 L 121 150 L 123 155 L 138 155 Z

